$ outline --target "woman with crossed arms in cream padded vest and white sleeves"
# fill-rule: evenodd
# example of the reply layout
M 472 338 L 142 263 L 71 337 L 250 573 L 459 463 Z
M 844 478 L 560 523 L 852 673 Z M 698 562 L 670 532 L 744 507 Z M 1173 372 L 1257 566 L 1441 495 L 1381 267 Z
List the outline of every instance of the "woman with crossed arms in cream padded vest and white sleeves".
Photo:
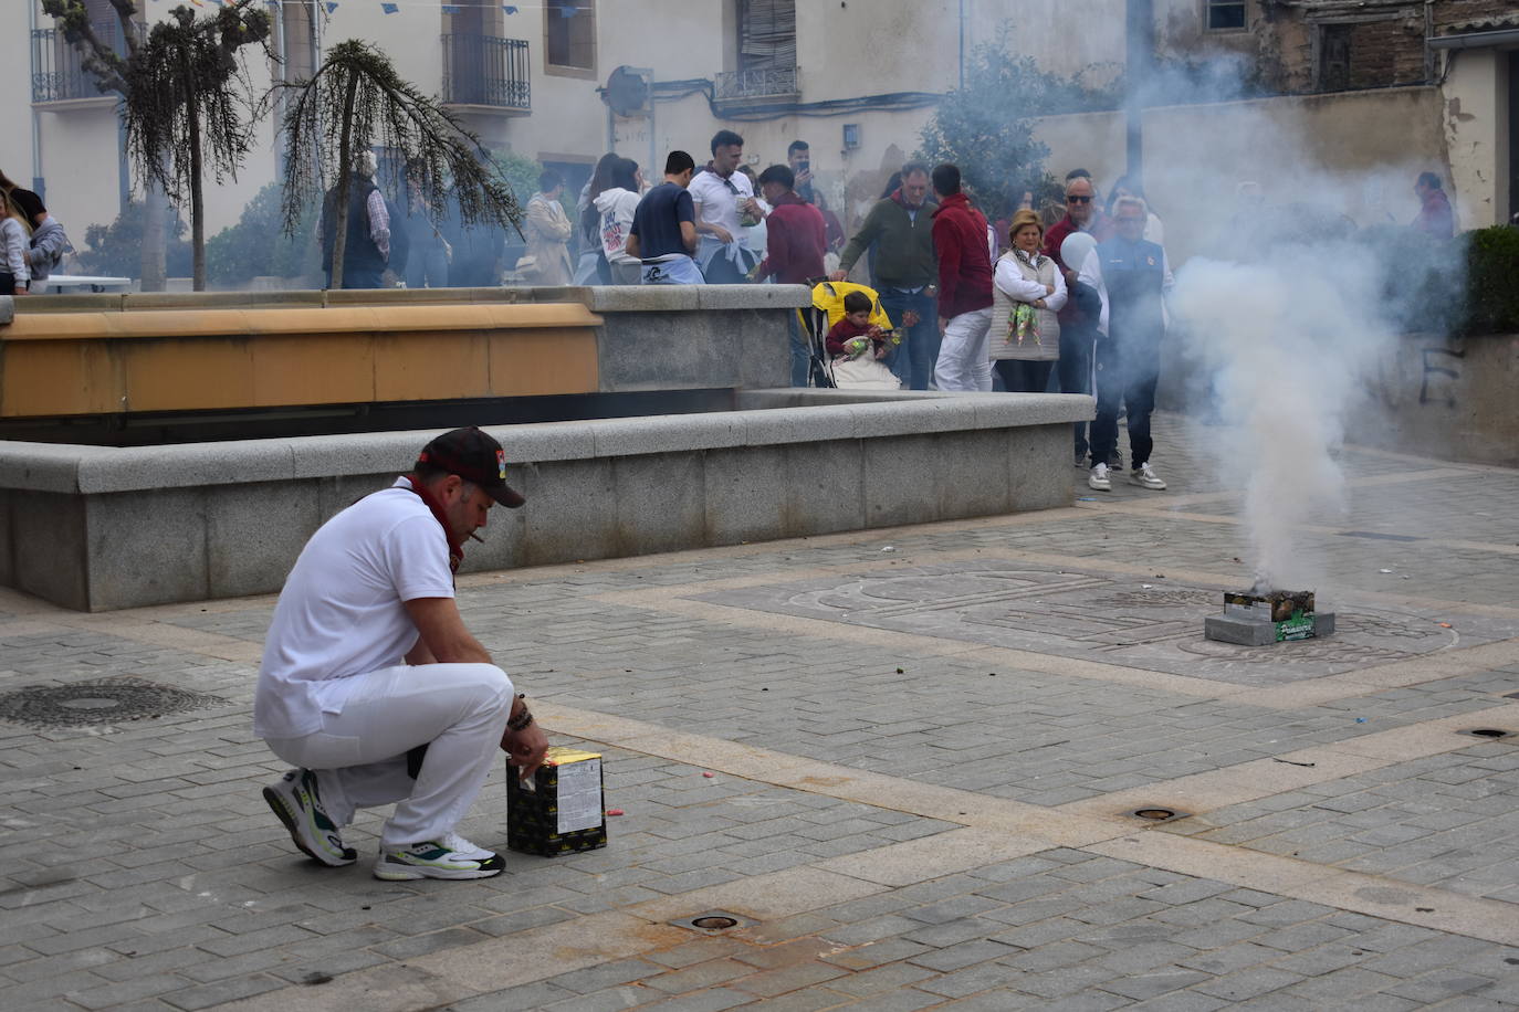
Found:
M 1009 393 L 1044 393 L 1060 358 L 1056 313 L 1065 305 L 1065 276 L 1039 252 L 1037 211 L 1013 214 L 1007 240 L 1012 249 L 996 258 L 992 276 L 992 361 Z

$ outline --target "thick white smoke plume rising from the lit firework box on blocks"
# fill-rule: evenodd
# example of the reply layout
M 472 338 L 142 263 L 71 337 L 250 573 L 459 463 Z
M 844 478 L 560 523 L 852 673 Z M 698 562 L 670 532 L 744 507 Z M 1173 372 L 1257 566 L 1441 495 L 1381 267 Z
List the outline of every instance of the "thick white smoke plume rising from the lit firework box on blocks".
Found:
M 1314 590 L 1335 574 L 1305 551 L 1300 531 L 1344 516 L 1335 449 L 1355 438 L 1349 420 L 1366 417 L 1358 408 L 1367 407 L 1367 372 L 1401 331 L 1417 329 L 1414 314 L 1425 310 L 1408 297 L 1414 285 L 1388 297 L 1388 281 L 1419 276 L 1410 243 L 1416 253 L 1435 247 L 1388 225 L 1385 212 L 1363 220 L 1376 228 L 1360 232 L 1343 212 L 1364 214 L 1373 197 L 1408 193 L 1411 167 L 1385 165 L 1355 179 L 1325 171 L 1311 138 L 1293 137 L 1253 109 L 1240 103 L 1227 121 L 1212 118 L 1215 129 L 1170 176 L 1151 170 L 1171 193 L 1195 187 L 1215 196 L 1205 212 L 1215 238 L 1177 272 L 1173 341 L 1191 399 L 1211 399 L 1220 423 L 1194 426 L 1192 438 L 1212 455 L 1220 484 L 1244 492 L 1256 587 Z M 1241 162 L 1218 155 L 1246 147 L 1268 150 L 1282 173 L 1267 178 L 1262 203 L 1235 203 L 1230 214 L 1218 197 L 1243 181 Z

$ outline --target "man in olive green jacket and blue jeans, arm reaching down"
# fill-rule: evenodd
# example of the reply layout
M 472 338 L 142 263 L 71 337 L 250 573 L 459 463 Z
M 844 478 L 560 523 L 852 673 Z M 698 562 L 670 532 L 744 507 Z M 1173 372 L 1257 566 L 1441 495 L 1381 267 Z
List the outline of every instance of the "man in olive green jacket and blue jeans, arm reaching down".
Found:
M 902 331 L 902 343 L 887 360 L 902 385 L 928 390 L 939 361 L 939 258 L 934 256 L 934 211 L 928 196 L 928 165 L 902 165 L 902 185 L 876 200 L 864 225 L 845 246 L 834 281 L 875 246 L 875 284 L 881 308 Z

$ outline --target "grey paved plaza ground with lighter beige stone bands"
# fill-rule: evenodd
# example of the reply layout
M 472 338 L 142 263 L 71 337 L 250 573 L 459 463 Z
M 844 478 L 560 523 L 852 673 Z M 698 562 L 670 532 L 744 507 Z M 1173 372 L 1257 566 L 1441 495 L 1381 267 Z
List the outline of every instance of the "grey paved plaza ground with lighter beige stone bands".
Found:
M 1343 451 L 1338 631 L 1246 648 L 1208 442 L 1157 419 L 1164 493 L 460 578 L 623 812 L 482 882 L 375 880 L 375 813 L 292 848 L 272 596 L 3 592 L 0 1007 L 1519 1009 L 1519 472 Z M 504 848 L 504 771 L 460 828 Z

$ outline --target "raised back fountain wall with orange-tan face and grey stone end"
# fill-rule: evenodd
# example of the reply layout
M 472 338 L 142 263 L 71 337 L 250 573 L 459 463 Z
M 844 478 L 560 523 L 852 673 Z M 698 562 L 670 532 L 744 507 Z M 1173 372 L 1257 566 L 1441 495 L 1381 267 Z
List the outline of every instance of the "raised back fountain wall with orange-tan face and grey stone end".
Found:
M 790 382 L 805 285 L 0 297 L 0 416 Z

